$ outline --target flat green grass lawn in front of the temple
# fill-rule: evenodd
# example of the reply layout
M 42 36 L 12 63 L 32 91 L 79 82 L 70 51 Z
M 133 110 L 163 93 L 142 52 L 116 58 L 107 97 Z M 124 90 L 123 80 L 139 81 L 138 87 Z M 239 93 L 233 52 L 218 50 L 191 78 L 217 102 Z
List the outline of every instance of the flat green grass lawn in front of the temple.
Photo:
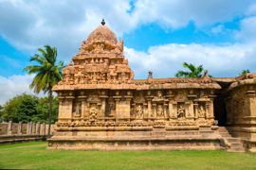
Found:
M 256 169 L 256 153 L 226 151 L 66 151 L 45 142 L 0 144 L 0 168 Z

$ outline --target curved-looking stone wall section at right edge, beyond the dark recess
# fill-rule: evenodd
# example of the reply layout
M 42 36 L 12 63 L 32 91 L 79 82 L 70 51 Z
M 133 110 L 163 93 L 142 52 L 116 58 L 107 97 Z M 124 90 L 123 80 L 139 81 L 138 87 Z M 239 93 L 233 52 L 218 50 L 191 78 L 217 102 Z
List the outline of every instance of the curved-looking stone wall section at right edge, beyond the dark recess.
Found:
M 240 79 L 230 85 L 226 97 L 227 125 L 241 137 L 245 147 L 256 151 L 255 77 Z

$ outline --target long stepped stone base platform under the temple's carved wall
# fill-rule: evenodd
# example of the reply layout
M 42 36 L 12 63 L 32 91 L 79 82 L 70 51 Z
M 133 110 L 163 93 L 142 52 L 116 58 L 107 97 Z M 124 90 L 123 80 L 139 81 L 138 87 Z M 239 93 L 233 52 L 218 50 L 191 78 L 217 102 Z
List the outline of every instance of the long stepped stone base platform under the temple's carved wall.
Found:
M 212 129 L 213 128 L 213 129 Z M 170 130 L 166 128 L 102 131 L 95 127 L 88 131 L 62 131 L 48 140 L 48 148 L 79 150 L 215 150 L 225 149 L 216 127 Z M 84 129 L 83 129 L 84 130 Z M 143 131 L 142 131 L 143 130 Z

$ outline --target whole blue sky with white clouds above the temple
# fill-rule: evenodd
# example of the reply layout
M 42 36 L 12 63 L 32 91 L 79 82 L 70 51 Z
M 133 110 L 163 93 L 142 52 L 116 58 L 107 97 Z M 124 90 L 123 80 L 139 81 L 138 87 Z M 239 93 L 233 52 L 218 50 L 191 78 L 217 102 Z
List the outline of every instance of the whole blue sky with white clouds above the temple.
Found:
M 0 0 L 0 104 L 31 93 L 23 68 L 37 48 L 68 63 L 104 18 L 124 40 L 136 78 L 174 76 L 183 61 L 212 76 L 256 72 L 254 0 Z

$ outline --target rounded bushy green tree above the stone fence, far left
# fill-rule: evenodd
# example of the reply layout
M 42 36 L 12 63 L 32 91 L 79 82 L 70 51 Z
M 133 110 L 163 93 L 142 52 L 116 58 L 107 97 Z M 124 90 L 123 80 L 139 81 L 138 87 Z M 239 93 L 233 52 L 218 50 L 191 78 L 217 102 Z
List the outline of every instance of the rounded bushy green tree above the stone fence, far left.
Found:
M 30 122 L 37 117 L 38 97 L 23 93 L 9 99 L 2 110 L 2 119 L 12 122 Z

